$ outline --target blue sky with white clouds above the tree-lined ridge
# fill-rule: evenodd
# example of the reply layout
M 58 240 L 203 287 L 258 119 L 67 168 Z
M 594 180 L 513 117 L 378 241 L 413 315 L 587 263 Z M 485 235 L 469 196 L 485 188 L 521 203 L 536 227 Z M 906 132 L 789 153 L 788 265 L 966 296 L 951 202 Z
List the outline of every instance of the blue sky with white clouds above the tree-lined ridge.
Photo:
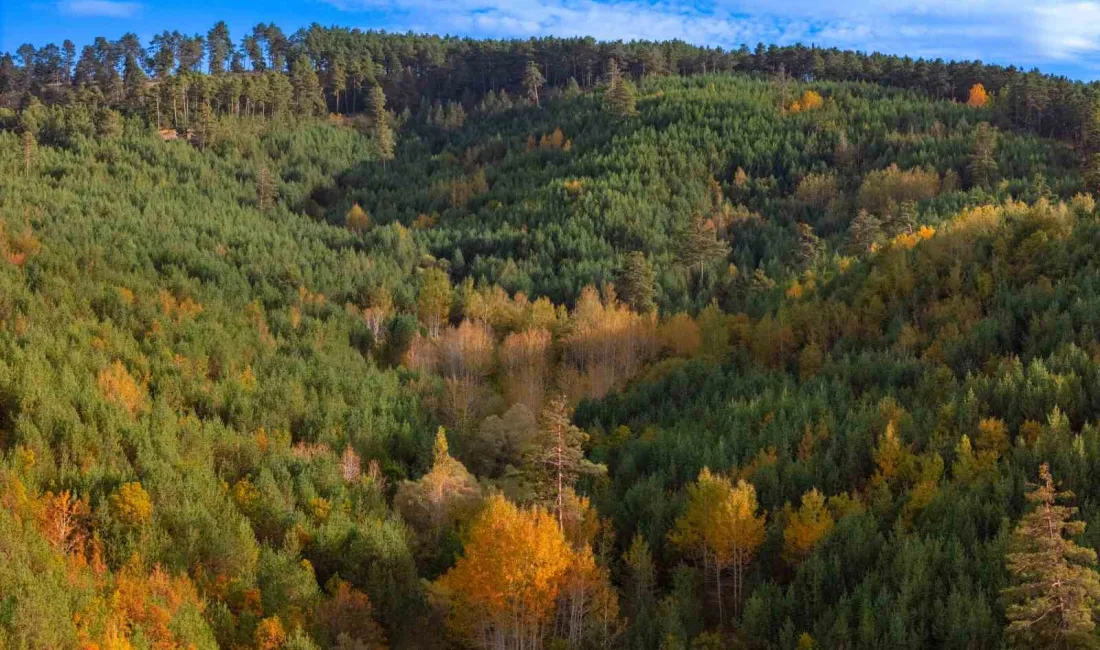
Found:
M 804 43 L 1100 79 L 1100 0 L 0 0 L 0 51 L 257 22 L 464 36 Z

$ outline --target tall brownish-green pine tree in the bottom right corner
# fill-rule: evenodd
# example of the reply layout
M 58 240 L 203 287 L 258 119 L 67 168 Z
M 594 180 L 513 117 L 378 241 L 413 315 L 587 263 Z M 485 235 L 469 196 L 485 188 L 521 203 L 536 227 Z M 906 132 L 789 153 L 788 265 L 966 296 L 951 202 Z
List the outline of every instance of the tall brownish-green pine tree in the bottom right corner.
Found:
M 1100 603 L 1097 553 L 1067 539 L 1081 535 L 1085 522 L 1072 519 L 1077 508 L 1057 505 L 1074 494 L 1056 491 L 1046 463 L 1040 481 L 1027 495 L 1035 508 L 1016 526 L 1007 558 L 1013 585 L 1001 592 L 1009 619 L 1005 637 L 1016 648 L 1093 648 Z

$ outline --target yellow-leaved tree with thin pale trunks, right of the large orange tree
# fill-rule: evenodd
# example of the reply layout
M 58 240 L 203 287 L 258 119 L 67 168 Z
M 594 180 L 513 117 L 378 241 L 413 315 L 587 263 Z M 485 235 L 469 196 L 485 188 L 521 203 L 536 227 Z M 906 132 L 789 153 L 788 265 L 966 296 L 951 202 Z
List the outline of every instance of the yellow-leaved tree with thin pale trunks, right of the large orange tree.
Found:
M 745 570 L 763 543 L 766 518 L 758 510 L 752 484 L 741 480 L 734 486 L 729 478 L 716 476 L 704 467 L 698 481 L 688 488 L 688 509 L 676 519 L 669 536 L 675 547 L 702 561 L 704 573 L 714 576 L 719 624 L 725 618 L 723 574 L 733 571 L 736 612 Z

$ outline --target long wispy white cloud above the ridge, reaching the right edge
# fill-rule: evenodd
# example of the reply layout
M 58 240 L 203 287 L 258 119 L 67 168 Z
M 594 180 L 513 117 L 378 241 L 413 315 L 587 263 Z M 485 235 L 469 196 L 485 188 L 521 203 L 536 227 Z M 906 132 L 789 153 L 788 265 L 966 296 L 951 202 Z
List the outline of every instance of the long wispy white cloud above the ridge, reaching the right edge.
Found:
M 681 38 L 725 47 L 803 42 L 1085 68 L 1100 51 L 1100 0 L 326 1 L 381 12 L 397 29 L 482 36 Z

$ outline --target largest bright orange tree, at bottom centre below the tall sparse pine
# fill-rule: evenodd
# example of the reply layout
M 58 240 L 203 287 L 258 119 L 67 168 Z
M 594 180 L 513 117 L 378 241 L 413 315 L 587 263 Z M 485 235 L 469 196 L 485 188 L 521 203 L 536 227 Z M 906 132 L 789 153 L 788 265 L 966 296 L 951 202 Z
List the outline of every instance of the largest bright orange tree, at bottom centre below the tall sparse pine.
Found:
M 572 564 L 554 517 L 495 495 L 435 592 L 449 606 L 448 627 L 473 646 L 537 650 Z

